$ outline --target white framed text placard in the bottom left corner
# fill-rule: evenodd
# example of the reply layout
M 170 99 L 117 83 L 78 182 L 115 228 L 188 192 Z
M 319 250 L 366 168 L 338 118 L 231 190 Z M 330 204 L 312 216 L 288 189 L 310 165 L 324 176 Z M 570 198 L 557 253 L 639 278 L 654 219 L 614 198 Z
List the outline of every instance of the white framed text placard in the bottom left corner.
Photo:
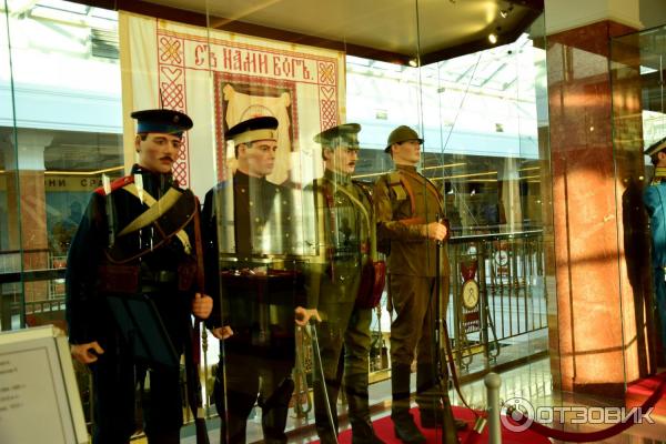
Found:
M 0 443 L 88 443 L 69 344 L 52 325 L 0 333 Z

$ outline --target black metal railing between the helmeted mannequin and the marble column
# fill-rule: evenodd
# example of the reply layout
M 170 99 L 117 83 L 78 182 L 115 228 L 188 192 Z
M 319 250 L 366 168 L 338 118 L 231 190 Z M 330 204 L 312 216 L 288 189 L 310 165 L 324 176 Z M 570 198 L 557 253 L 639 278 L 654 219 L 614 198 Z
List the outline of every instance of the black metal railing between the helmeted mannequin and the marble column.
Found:
M 448 255 L 451 303 L 446 317 L 458 369 L 487 372 L 498 363 L 503 349 L 512 345 L 525 349 L 514 353 L 521 357 L 543 352 L 538 344 L 546 337 L 548 297 L 543 231 L 452 238 Z M 462 300 L 467 280 L 478 287 L 475 306 L 466 306 Z

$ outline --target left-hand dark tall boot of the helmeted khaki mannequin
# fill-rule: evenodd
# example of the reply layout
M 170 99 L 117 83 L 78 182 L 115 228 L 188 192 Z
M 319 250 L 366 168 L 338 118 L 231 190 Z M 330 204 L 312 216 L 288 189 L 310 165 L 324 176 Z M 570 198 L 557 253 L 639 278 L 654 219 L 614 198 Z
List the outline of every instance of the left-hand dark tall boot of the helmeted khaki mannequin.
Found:
M 395 364 L 391 369 L 391 391 L 393 403 L 391 405 L 391 420 L 393 421 L 395 436 L 406 444 L 425 443 L 414 417 L 410 413 L 410 365 Z

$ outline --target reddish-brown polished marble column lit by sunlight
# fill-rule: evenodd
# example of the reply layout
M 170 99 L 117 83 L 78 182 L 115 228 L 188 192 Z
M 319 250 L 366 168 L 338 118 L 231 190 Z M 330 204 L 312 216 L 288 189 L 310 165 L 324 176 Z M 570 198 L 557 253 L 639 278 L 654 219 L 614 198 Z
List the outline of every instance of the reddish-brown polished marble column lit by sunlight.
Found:
M 637 273 L 649 262 L 645 249 L 636 248 L 645 226 L 636 139 L 639 73 L 635 65 L 612 84 L 609 51 L 610 38 L 636 30 L 627 17 L 637 17 L 637 7 L 627 2 L 628 10 L 614 11 L 610 1 L 549 3 L 568 9 L 569 17 L 622 18 L 549 30 L 546 60 L 557 285 L 557 319 L 549 320 L 553 379 L 566 392 L 623 400 L 625 383 L 652 370 L 646 287 Z M 581 11 L 593 3 L 594 14 Z M 627 100 L 618 102 L 617 94 Z M 633 118 L 616 123 L 622 121 L 622 131 L 635 140 L 620 143 L 616 134 L 614 143 L 613 119 L 627 115 Z

